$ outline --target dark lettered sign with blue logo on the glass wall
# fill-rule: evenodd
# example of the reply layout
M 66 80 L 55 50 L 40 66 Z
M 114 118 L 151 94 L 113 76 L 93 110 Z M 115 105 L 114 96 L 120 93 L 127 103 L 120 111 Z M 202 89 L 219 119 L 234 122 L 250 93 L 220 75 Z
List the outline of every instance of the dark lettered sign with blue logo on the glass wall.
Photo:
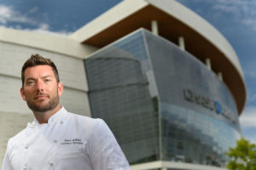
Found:
M 224 105 L 221 105 L 218 101 L 209 99 L 201 94 L 196 94 L 190 89 L 183 89 L 183 94 L 184 98 L 187 101 L 195 103 L 196 105 L 201 105 L 202 107 L 205 107 L 208 110 L 214 111 L 218 115 L 224 116 L 231 122 L 236 123 L 236 118 L 234 114 L 226 107 L 224 107 Z

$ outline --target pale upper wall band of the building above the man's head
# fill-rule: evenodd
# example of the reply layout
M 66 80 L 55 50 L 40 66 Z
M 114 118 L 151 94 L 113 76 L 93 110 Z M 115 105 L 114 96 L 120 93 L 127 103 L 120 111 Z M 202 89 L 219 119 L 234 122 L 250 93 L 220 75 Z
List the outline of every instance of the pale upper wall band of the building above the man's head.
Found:
M 91 54 L 97 48 L 83 45 L 68 37 L 56 36 L 49 33 L 0 28 L 0 42 L 7 42 L 29 48 L 44 49 L 57 54 L 70 55 L 84 59 L 84 55 Z

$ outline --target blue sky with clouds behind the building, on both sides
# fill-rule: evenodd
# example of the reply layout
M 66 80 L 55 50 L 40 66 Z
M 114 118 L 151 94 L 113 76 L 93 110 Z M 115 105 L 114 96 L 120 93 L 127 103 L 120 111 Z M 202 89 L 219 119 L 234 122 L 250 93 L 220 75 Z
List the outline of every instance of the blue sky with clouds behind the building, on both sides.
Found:
M 0 26 L 67 36 L 121 1 L 0 0 Z M 216 27 L 235 49 L 247 84 L 241 131 L 246 139 L 256 143 L 256 0 L 177 2 Z

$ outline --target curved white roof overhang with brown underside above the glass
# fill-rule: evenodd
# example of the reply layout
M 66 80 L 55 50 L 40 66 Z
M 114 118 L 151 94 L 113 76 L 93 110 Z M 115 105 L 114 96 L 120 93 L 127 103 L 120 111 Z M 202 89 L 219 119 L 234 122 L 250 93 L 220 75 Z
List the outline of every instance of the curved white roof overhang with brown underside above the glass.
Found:
M 183 37 L 186 51 L 202 62 L 211 59 L 212 71 L 222 73 L 241 114 L 247 88 L 234 49 L 206 20 L 173 0 L 125 0 L 70 38 L 102 48 L 138 28 L 151 30 L 152 20 L 157 21 L 161 37 L 174 43 L 178 37 Z

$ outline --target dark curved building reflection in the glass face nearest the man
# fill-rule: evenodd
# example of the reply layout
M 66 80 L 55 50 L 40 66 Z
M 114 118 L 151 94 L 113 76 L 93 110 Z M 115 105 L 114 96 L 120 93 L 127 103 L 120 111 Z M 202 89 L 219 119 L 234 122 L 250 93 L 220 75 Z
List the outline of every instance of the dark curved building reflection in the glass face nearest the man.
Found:
M 132 163 L 159 159 L 158 102 L 142 64 L 110 47 L 85 60 L 93 117 L 104 119 Z

